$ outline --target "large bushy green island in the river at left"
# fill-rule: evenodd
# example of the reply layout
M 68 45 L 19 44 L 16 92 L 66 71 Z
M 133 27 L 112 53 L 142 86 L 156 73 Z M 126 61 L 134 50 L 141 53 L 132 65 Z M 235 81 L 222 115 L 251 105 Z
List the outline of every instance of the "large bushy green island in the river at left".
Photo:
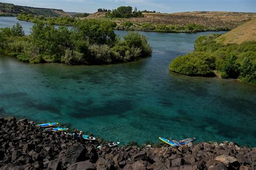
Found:
M 151 55 L 147 39 L 130 32 L 123 39 L 114 33 L 116 23 L 86 19 L 69 30 L 38 22 L 24 35 L 20 24 L 0 29 L 0 49 L 22 62 L 56 62 L 69 65 L 130 62 Z

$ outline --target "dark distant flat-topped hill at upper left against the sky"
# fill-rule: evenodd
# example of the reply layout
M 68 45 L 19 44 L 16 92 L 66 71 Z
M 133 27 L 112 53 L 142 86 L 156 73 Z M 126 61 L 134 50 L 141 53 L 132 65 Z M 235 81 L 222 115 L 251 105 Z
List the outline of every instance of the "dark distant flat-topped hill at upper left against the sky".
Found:
M 9 3 L 0 3 L 0 16 L 17 16 L 19 13 L 31 13 L 36 16 L 70 16 L 68 12 L 60 9 L 34 8 L 30 6 L 19 6 Z

